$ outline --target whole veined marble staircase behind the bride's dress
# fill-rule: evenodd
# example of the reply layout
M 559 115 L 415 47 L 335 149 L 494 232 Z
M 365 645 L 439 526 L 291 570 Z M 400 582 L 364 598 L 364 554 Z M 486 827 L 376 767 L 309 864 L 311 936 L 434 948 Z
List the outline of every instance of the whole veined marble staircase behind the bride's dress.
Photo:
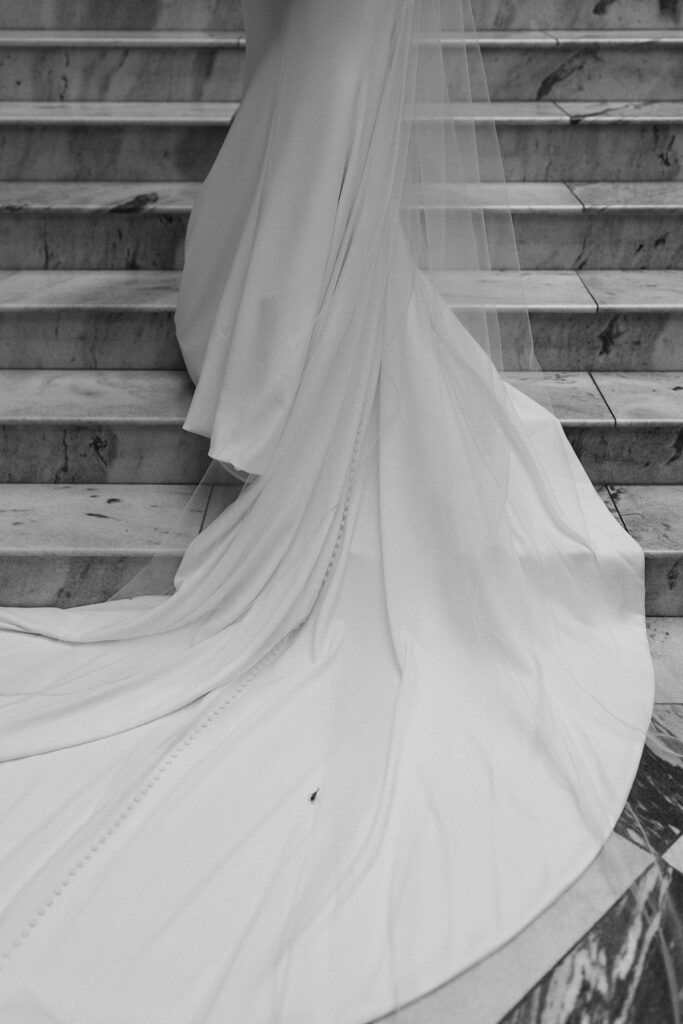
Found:
M 645 549 L 666 660 L 683 637 L 683 4 L 476 0 L 475 11 L 551 372 L 543 394 L 521 371 L 511 380 L 551 398 Z M 446 70 L 455 58 L 454 47 Z M 190 501 L 206 444 L 181 430 L 190 385 L 172 315 L 187 217 L 243 63 L 234 0 L 3 0 L 3 603 L 113 593 Z M 481 112 L 447 116 L 470 113 Z M 495 239 L 498 186 L 482 203 Z M 444 267 L 446 291 L 456 272 Z M 488 284 L 512 335 L 516 289 L 504 270 Z M 156 563 L 161 583 L 234 493 L 195 495 Z

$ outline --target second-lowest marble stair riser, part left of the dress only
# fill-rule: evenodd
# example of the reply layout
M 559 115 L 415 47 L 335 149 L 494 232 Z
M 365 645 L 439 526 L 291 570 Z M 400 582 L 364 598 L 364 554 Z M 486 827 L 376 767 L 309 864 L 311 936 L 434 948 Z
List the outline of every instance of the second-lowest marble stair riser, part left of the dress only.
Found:
M 2 483 L 195 483 L 208 442 L 180 424 L 0 424 Z

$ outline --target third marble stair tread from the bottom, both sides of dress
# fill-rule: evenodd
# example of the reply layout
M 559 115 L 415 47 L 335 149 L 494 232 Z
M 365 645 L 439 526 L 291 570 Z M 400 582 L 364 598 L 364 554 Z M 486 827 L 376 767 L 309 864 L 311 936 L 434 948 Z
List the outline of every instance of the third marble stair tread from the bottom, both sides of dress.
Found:
M 481 305 L 482 289 L 501 309 L 596 312 L 683 310 L 682 270 L 435 271 L 444 296 Z M 0 270 L 0 311 L 25 309 L 173 310 L 177 270 Z M 523 292 L 523 294 L 522 294 Z

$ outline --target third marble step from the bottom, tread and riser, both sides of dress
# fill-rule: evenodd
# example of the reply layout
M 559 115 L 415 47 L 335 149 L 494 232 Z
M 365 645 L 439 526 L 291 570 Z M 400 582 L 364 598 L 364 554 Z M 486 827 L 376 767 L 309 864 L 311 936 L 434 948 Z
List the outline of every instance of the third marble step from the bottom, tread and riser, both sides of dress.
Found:
M 0 369 L 181 369 L 178 283 L 161 270 L 0 270 Z M 437 284 L 463 295 L 458 274 Z M 472 303 L 484 290 L 501 304 L 511 369 L 528 306 L 545 370 L 683 371 L 681 271 L 499 272 L 464 284 Z

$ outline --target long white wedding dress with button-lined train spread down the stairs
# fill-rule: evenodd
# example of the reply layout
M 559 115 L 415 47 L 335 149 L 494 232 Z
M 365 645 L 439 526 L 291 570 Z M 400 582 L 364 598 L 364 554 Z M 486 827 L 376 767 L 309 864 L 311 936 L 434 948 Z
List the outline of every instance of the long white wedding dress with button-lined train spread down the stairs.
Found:
M 435 4 L 245 13 L 177 326 L 248 481 L 173 594 L 2 611 L 7 1024 L 397 1011 L 594 860 L 648 726 L 642 553 L 498 372 L 493 126 L 439 113 Z

